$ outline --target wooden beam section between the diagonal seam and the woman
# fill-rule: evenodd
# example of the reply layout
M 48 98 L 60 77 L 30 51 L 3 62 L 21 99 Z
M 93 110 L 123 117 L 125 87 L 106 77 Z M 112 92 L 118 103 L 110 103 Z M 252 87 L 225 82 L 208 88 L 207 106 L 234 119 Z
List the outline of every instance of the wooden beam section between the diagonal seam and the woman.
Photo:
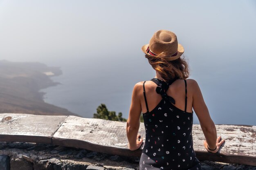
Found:
M 144 126 L 144 125 L 143 125 Z M 141 136 L 145 129 L 139 128 Z M 53 144 L 72 146 L 114 155 L 140 156 L 128 149 L 126 122 L 69 116 L 52 139 Z

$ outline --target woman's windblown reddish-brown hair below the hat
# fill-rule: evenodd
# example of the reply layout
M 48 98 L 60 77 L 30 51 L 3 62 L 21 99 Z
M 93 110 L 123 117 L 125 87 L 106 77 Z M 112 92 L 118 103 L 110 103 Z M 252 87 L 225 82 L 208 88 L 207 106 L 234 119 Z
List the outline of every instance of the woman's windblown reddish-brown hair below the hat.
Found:
M 165 82 L 175 78 L 186 79 L 189 77 L 189 66 L 183 56 L 173 61 L 167 61 L 164 57 L 151 58 L 148 55 L 145 55 L 145 57 Z

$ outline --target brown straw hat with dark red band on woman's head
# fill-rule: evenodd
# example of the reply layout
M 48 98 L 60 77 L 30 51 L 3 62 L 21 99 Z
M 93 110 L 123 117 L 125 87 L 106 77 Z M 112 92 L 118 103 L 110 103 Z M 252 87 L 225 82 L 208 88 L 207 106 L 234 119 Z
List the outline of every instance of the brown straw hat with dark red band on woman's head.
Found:
M 167 61 L 176 60 L 184 53 L 184 48 L 178 44 L 175 33 L 167 30 L 155 32 L 149 44 L 142 46 L 141 49 L 150 58 L 164 57 Z

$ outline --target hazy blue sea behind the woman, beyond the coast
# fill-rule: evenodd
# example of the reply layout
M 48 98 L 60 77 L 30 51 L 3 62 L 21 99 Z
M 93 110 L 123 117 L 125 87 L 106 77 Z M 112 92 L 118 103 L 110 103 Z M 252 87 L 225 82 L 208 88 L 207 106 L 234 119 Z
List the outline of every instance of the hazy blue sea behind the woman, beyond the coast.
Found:
M 198 82 L 214 123 L 256 125 L 253 55 L 245 60 L 240 57 L 242 51 L 226 51 L 219 56 L 206 53 L 207 49 L 205 53 L 184 57 L 190 66 L 189 78 Z M 45 102 L 86 118 L 92 118 L 100 104 L 128 118 L 134 85 L 155 77 L 155 71 L 140 52 L 110 57 L 70 57 L 46 64 L 59 66 L 63 74 L 52 77 L 61 84 L 41 90 L 46 93 Z M 200 123 L 195 113 L 193 123 Z

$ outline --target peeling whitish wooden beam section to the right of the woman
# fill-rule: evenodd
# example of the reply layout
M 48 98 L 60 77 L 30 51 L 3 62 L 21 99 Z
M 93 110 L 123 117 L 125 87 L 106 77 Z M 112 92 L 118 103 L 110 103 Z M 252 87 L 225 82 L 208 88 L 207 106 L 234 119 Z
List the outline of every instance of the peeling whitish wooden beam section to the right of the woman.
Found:
M 212 154 L 204 149 L 200 125 L 193 125 L 193 146 L 198 159 L 256 166 L 256 126 L 216 125 L 216 130 L 225 144 L 218 154 Z

